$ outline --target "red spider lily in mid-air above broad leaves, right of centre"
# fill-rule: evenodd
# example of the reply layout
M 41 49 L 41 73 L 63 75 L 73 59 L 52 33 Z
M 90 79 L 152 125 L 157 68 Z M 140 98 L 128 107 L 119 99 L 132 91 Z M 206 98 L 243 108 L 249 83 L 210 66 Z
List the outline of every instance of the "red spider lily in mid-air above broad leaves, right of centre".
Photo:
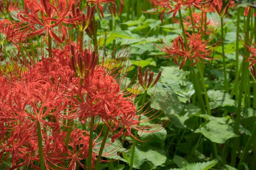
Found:
M 172 46 L 164 45 L 164 47 L 159 48 L 161 51 L 166 52 L 168 57 L 174 58 L 176 64 L 177 60 L 182 59 L 179 69 L 183 67 L 187 59 L 193 62 L 193 65 L 202 59 L 211 60 L 210 54 L 212 51 L 208 49 L 207 43 L 201 40 L 201 35 L 187 33 L 187 36 L 186 48 L 181 36 L 175 38 Z

